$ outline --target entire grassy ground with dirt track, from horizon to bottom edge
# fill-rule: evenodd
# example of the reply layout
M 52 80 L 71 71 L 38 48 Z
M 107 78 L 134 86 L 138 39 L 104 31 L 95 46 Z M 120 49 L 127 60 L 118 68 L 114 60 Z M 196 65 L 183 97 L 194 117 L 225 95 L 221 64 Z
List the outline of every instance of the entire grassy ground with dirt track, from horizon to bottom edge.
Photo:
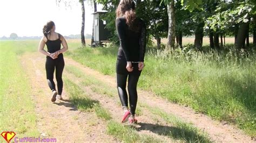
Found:
M 68 40 L 64 100 L 55 103 L 39 41 L 0 41 L 0 131 L 57 142 L 253 142 L 254 53 L 147 51 L 131 126 L 120 123 L 117 47 L 79 41 Z

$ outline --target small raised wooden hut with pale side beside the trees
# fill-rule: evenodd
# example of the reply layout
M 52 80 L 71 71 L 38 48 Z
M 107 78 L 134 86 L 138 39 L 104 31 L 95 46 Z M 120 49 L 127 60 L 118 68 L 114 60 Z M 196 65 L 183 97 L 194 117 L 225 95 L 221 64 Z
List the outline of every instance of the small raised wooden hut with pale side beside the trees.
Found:
M 93 15 L 93 20 L 94 20 L 94 27 L 93 27 L 93 39 L 94 43 L 92 46 L 101 46 L 102 42 L 110 42 L 109 37 L 110 37 L 110 31 L 107 30 L 106 28 L 106 21 L 100 19 L 100 15 L 107 13 L 107 12 L 94 12 L 92 13 Z

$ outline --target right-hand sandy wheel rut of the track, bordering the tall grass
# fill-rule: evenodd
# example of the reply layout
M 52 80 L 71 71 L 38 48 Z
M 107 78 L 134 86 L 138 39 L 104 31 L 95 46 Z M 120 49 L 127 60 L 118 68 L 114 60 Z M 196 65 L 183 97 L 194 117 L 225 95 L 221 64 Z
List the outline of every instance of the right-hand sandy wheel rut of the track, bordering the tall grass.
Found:
M 80 63 L 68 58 L 65 58 L 65 63 L 67 65 L 72 65 L 82 69 L 84 74 L 87 76 L 92 75 L 98 78 L 98 80 L 107 83 L 112 87 L 116 87 L 116 79 L 114 77 L 100 74 L 98 71 L 87 68 L 84 65 L 81 65 Z M 219 121 L 212 120 L 203 114 L 196 113 L 190 108 L 170 103 L 169 101 L 166 101 L 165 99 L 160 98 L 151 92 L 138 91 L 138 95 L 138 101 L 143 101 L 151 107 L 157 107 L 167 113 L 171 113 L 174 116 L 180 117 L 181 119 L 192 123 L 201 130 L 207 132 L 211 139 L 215 142 L 253 142 L 250 137 L 244 134 L 237 127 L 228 124 L 223 125 Z M 106 108 L 108 106 L 109 105 L 106 105 Z M 144 121 L 147 121 L 147 119 Z

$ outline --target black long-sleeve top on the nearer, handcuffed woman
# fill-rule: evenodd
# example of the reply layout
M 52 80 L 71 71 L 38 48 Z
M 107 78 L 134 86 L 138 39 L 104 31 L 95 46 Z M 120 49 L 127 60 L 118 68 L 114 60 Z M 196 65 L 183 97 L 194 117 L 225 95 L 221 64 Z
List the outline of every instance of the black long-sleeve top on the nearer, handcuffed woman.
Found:
M 116 28 L 120 40 L 117 59 L 129 62 L 143 62 L 146 49 L 146 25 L 137 18 L 138 31 L 131 30 L 126 24 L 125 17 L 116 19 Z

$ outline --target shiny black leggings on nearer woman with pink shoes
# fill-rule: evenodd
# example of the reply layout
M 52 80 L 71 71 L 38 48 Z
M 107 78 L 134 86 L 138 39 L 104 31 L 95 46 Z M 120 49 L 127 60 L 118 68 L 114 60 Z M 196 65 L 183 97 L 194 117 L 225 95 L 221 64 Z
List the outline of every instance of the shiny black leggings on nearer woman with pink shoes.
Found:
M 135 115 L 137 105 L 137 83 L 139 74 L 118 74 L 117 73 L 117 90 L 122 106 L 128 106 L 128 96 L 126 92 L 126 81 L 128 77 L 128 92 L 131 115 Z

